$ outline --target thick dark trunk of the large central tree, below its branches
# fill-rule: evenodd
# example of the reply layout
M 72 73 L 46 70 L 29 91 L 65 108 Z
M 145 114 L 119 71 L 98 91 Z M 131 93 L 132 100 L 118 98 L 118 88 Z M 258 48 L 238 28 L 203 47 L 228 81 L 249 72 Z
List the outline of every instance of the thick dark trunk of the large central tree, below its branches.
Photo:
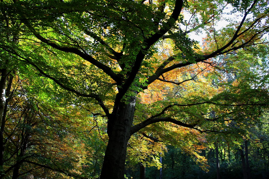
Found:
M 135 97 L 120 103 L 116 112 L 108 117 L 108 144 L 106 147 L 100 179 L 124 179 L 127 144 L 135 112 Z

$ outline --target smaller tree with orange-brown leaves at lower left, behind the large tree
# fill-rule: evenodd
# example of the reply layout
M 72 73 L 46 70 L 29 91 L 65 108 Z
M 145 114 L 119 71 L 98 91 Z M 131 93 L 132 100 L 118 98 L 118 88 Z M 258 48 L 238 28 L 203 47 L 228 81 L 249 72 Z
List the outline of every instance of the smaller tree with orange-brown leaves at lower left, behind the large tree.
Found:
M 25 175 L 44 178 L 52 175 L 57 178 L 53 174 L 55 171 L 67 176 L 78 175 L 81 168 L 77 163 L 83 162 L 85 150 L 76 139 L 78 134 L 71 132 L 77 125 L 73 112 L 65 114 L 63 107 L 59 112 L 57 106 L 53 110 L 48 109 L 51 99 L 48 96 L 46 100 L 42 99 L 44 96 L 37 95 L 38 92 L 35 92 L 38 97 L 33 97 L 30 89 L 34 87 L 29 86 L 30 80 L 22 80 L 18 74 L 10 74 L 12 78 L 7 85 L 12 95 L 9 96 L 1 128 L 3 163 L 0 178 L 16 179 Z M 77 172 L 73 171 L 75 169 Z

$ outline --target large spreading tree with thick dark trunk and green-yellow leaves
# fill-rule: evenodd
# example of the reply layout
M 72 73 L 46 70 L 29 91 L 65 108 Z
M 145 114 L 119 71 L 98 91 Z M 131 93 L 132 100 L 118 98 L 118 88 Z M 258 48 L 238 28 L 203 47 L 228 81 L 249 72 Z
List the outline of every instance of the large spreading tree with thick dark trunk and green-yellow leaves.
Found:
M 233 70 L 223 70 L 232 62 L 244 63 L 240 49 L 255 51 L 267 43 L 262 40 L 269 29 L 265 1 L 7 0 L 1 8 L 23 24 L 14 29 L 19 42 L 4 41 L 1 49 L 80 96 L 79 105 L 94 105 L 93 113 L 107 120 L 101 179 L 124 178 L 128 141 L 143 128 L 168 122 L 200 132 L 229 132 L 232 117 L 255 119 L 268 104 L 265 83 L 253 88 L 240 81 L 249 68 L 240 69 L 242 78 L 234 83 L 228 80 Z M 229 24 L 217 30 L 226 18 Z M 207 33 L 207 48 L 188 37 L 199 30 Z M 170 50 L 158 48 L 161 43 Z M 214 81 L 202 78 L 206 69 Z M 154 89 L 156 81 L 166 92 L 153 104 L 138 104 L 139 95 Z M 164 97 L 172 92 L 173 97 Z M 135 118 L 138 106 L 146 109 L 141 118 Z

